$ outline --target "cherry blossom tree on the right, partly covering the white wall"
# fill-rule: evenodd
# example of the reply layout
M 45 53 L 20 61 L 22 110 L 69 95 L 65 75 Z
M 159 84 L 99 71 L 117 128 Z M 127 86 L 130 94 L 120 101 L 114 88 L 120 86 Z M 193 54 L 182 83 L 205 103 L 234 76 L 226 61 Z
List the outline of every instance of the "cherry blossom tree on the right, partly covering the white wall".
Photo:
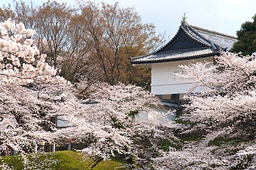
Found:
M 157 169 L 256 168 L 255 56 L 223 53 L 215 60 L 181 66 L 187 74 L 179 76 L 194 86 L 180 134 L 199 139 L 162 153 Z

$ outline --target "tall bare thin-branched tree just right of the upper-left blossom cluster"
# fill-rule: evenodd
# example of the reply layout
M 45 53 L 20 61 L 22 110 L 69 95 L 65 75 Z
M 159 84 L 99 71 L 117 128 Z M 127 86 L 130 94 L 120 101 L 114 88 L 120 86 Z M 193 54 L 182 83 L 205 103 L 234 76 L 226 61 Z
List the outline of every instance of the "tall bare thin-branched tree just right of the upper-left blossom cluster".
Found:
M 48 63 L 57 68 L 58 57 L 66 50 L 68 43 L 68 23 L 74 9 L 57 1 L 48 1 L 38 6 L 35 13 L 35 38 L 39 50 L 48 55 Z

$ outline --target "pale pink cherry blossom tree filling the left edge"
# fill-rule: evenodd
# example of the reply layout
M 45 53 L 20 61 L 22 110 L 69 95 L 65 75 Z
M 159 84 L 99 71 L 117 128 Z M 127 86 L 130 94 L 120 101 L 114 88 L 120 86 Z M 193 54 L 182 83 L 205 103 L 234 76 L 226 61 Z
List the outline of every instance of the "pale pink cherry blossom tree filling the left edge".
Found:
M 29 152 L 35 140 L 48 140 L 43 134 L 53 130 L 54 98 L 69 89 L 33 46 L 34 33 L 11 19 L 0 23 L 1 151 Z

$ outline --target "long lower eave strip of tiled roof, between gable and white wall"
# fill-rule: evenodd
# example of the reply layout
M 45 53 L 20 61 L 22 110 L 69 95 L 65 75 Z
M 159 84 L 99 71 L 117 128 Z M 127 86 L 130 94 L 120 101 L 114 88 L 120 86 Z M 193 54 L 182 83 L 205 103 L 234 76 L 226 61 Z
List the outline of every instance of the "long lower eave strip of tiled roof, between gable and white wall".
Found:
M 133 57 L 133 64 L 154 63 L 154 62 L 170 62 L 177 60 L 187 60 L 197 57 L 208 57 L 210 55 L 217 55 L 211 47 L 204 47 L 200 49 L 187 49 L 187 50 L 175 50 L 167 52 L 152 53 L 150 55 L 144 55 L 141 57 Z

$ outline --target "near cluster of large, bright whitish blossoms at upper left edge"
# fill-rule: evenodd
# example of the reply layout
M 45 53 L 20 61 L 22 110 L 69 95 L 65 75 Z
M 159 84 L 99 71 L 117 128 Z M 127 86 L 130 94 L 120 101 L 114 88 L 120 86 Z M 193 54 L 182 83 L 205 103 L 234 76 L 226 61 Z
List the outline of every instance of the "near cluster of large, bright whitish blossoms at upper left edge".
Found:
M 65 81 L 53 78 L 56 70 L 45 62 L 33 45 L 35 30 L 9 19 L 0 23 L 0 84 L 28 84 L 40 81 Z

